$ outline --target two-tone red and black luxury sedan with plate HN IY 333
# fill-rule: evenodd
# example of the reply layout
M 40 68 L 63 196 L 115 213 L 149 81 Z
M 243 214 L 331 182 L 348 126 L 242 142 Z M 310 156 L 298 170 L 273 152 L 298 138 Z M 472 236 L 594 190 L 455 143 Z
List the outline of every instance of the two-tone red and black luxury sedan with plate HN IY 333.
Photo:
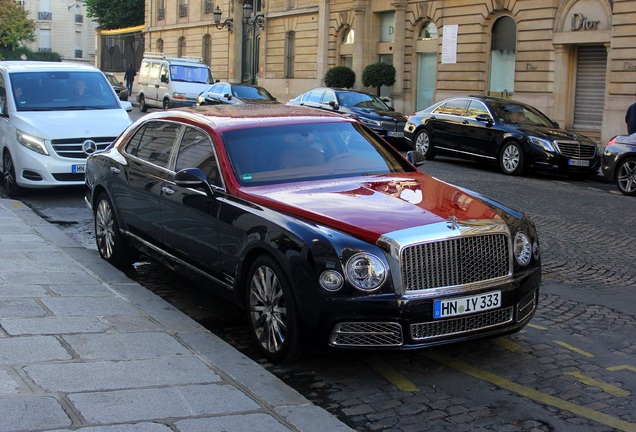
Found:
M 102 258 L 141 250 L 236 299 L 271 361 L 520 330 L 539 297 L 535 226 L 413 160 L 318 110 L 182 108 L 91 155 L 86 201 Z

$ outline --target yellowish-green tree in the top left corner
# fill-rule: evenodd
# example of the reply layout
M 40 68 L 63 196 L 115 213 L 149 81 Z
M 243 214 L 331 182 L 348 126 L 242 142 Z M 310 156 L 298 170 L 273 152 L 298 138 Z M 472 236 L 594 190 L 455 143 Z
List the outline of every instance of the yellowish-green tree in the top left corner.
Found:
M 12 51 L 35 40 L 35 21 L 13 0 L 0 0 L 0 49 Z

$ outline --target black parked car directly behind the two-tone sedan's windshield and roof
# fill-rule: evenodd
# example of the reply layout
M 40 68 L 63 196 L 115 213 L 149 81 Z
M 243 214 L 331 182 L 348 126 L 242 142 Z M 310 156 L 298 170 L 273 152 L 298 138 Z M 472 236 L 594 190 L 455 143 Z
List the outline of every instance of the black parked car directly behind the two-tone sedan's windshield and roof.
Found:
M 322 87 L 296 96 L 287 104 L 335 111 L 359 120 L 389 141 L 404 142 L 406 116 L 369 93 Z

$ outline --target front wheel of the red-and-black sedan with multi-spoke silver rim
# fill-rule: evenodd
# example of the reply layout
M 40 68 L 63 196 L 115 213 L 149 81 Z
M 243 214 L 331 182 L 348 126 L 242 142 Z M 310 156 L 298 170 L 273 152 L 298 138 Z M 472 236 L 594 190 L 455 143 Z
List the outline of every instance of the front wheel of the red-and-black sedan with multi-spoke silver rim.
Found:
M 247 318 L 261 353 L 274 363 L 301 354 L 298 312 L 281 267 L 269 256 L 257 258 L 247 278 Z

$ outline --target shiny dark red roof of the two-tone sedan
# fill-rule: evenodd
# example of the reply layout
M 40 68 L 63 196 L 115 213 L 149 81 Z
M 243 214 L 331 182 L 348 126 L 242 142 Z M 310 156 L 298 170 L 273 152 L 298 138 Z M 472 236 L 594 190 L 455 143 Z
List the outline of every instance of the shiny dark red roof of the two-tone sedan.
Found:
M 313 108 L 290 105 L 204 105 L 157 111 L 142 119 L 180 120 L 206 123 L 218 131 L 240 129 L 245 126 L 280 126 L 282 124 L 352 122 L 342 115 Z

